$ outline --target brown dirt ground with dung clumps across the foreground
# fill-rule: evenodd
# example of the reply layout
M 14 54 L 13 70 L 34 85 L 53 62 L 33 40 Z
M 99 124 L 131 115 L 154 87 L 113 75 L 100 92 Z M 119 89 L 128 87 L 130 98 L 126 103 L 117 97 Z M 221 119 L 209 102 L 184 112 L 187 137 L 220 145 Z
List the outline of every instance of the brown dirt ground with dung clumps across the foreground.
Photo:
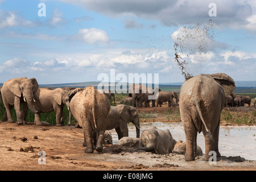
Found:
M 159 119 L 163 118 L 160 113 L 163 114 L 167 110 L 166 106 L 138 109 L 139 113 L 159 113 Z M 147 119 L 144 120 L 142 122 L 147 122 Z M 170 118 L 167 121 L 170 121 Z M 96 151 L 93 154 L 85 154 L 85 147 L 82 147 L 82 129 L 70 126 L 35 126 L 32 123 L 16 125 L 0 122 L 0 138 L 1 171 L 256 170 L 256 160 L 245 160 L 240 156 L 222 156 L 216 164 L 205 162 L 203 156 L 197 157 L 193 162 L 185 162 L 184 155 L 151 154 L 117 144 L 105 145 L 101 154 Z M 45 158 L 39 151 L 45 152 Z M 46 159 L 45 164 L 39 164 L 44 162 L 43 158 Z

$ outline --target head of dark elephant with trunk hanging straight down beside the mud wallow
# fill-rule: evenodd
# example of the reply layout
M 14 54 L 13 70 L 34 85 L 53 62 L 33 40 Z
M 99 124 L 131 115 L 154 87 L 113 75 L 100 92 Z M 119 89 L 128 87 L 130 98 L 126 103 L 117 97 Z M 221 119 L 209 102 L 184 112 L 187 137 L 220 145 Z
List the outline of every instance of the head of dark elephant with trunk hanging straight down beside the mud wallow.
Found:
M 132 122 L 136 127 L 136 137 L 139 138 L 139 113 L 137 109 L 133 106 L 127 106 L 123 105 L 119 109 L 120 117 L 125 121 L 126 123 Z

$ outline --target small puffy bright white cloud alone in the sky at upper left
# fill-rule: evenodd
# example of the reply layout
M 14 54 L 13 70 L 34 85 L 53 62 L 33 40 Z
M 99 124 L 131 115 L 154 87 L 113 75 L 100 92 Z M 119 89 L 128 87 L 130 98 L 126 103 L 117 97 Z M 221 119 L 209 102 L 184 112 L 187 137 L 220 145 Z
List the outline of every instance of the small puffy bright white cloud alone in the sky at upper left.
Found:
M 77 34 L 73 35 L 73 40 L 79 40 L 88 44 L 106 43 L 109 41 L 108 34 L 99 28 L 84 28 L 80 29 Z

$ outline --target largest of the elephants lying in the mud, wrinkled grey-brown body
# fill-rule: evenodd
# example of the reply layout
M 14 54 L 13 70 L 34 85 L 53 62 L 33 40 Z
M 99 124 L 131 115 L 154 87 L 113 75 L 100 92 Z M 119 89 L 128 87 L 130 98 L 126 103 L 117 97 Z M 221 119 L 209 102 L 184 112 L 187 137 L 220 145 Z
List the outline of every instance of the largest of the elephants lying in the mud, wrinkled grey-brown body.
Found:
M 144 130 L 139 138 L 139 150 L 155 154 L 172 153 L 176 140 L 168 129 L 159 130 L 155 126 L 152 129 Z

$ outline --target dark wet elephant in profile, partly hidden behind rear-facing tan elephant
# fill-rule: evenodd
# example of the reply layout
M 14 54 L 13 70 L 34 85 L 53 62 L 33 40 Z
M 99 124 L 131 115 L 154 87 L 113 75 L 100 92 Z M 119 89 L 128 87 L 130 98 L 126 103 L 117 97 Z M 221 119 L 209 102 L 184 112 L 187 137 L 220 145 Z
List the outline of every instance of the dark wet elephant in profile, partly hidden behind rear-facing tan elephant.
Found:
M 128 137 L 128 123 L 133 123 L 136 128 L 136 135 L 139 138 L 139 113 L 133 106 L 117 105 L 111 106 L 108 117 L 105 121 L 106 130 L 115 129 L 118 139 Z

